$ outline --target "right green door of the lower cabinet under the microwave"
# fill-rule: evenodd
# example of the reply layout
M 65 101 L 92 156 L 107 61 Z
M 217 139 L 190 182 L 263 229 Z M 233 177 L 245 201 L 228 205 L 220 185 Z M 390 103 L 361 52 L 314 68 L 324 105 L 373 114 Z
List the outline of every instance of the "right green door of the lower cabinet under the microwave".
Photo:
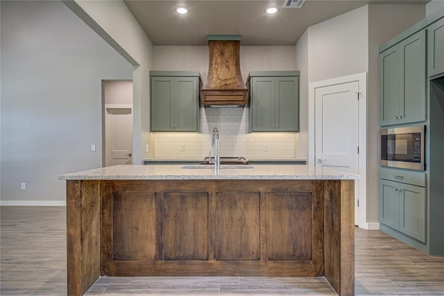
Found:
M 425 188 L 402 184 L 400 193 L 400 232 L 425 243 Z

